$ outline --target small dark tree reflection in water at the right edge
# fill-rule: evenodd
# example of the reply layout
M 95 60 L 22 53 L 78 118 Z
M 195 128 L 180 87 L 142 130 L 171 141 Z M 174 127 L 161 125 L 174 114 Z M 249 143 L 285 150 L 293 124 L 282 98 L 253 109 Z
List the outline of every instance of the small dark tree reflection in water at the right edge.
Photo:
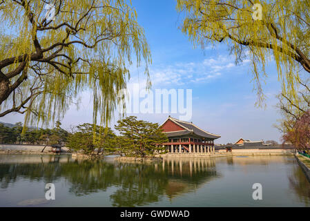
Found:
M 300 166 L 294 166 L 292 173 L 288 177 L 290 188 L 297 193 L 301 202 L 304 202 L 306 206 L 310 206 L 310 181 L 307 180 Z

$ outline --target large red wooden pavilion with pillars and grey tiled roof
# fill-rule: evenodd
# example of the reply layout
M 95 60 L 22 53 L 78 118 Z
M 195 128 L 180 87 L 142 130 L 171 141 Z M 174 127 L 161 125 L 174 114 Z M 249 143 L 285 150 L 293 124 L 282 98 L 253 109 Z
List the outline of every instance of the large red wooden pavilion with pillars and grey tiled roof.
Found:
M 214 140 L 221 137 L 202 130 L 193 122 L 183 122 L 170 116 L 160 127 L 169 139 L 162 145 L 171 154 L 214 153 Z

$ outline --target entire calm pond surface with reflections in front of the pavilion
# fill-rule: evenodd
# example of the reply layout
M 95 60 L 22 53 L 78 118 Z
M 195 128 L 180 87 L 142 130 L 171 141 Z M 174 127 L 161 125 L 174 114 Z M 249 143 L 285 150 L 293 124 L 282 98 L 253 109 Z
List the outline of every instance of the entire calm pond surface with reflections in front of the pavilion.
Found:
M 55 200 L 45 186 L 55 184 Z M 262 184 L 262 200 L 252 186 Z M 293 156 L 167 158 L 153 164 L 0 155 L 0 206 L 310 206 Z

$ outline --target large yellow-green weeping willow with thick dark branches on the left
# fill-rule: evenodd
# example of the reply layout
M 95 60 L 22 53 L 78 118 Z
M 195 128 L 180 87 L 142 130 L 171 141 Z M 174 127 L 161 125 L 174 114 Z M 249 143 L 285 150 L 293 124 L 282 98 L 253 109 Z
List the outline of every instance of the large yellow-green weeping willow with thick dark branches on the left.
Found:
M 97 116 L 108 122 L 129 67 L 143 65 L 148 76 L 151 62 L 144 30 L 126 2 L 1 1 L 0 117 L 24 113 L 26 122 L 50 122 L 90 91 L 94 122 Z

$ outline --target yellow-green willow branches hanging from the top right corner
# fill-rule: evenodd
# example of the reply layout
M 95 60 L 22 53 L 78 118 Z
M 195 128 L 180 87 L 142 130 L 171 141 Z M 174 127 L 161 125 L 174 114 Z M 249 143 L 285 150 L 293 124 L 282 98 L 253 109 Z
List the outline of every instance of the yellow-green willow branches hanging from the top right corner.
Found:
M 177 0 L 182 31 L 194 44 L 226 43 L 237 62 L 251 60 L 259 104 L 274 60 L 282 92 L 298 105 L 298 73 L 310 73 L 309 8 L 309 0 Z

